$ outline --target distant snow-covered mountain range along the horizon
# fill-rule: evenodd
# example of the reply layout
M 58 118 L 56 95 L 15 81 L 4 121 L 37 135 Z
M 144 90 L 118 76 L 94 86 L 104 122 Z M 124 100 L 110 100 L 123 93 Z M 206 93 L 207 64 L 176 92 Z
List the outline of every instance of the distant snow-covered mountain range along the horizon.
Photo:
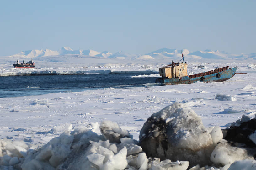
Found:
M 162 48 L 150 53 L 135 55 L 129 54 L 122 51 L 117 53 L 110 53 L 109 51 L 98 52 L 95 50 L 72 50 L 69 47 L 62 47 L 59 50 L 53 51 L 50 49 L 46 50 L 28 50 L 22 51 L 18 54 L 11 55 L 9 57 L 14 58 L 34 58 L 34 57 L 45 57 L 45 56 L 58 56 L 58 55 L 78 55 L 78 56 L 88 56 L 96 58 L 116 58 L 121 60 L 133 59 L 133 60 L 157 60 L 157 59 L 172 59 L 177 61 L 181 59 L 181 51 L 187 60 L 201 60 L 201 59 L 216 59 L 216 60 L 256 60 L 256 53 L 250 54 L 230 54 L 224 51 L 214 51 L 214 50 L 198 50 L 189 51 L 188 49 L 168 49 Z

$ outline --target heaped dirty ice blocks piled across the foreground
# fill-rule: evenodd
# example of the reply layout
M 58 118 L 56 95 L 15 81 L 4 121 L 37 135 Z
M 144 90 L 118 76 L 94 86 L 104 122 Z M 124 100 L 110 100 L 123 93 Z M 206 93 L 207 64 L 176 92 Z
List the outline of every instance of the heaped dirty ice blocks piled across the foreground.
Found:
M 251 170 L 256 168 L 254 122 L 243 116 L 225 130 L 205 128 L 191 108 L 176 102 L 147 119 L 139 142 L 111 121 L 100 124 L 100 135 L 93 132 L 96 127 L 70 124 L 60 136 L 36 149 L 23 141 L 2 139 L 0 169 Z M 241 129 L 250 132 L 246 140 L 254 145 L 232 137 Z

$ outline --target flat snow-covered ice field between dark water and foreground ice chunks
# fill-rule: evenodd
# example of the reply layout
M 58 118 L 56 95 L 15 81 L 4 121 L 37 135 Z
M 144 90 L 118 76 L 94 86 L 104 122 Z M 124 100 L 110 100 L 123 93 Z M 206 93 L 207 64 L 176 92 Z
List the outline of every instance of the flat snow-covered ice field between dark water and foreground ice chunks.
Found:
M 198 68 L 199 65 L 205 67 Z M 24 141 L 30 149 L 36 149 L 65 130 L 81 126 L 100 134 L 100 123 L 110 120 L 128 130 L 133 139 L 139 140 L 140 130 L 147 118 L 174 102 L 191 107 L 201 117 L 205 127 L 220 126 L 224 129 L 241 119 L 243 114 L 251 118 L 256 114 L 255 64 L 191 63 L 188 68 L 189 74 L 194 74 L 226 65 L 238 66 L 237 72 L 248 74 L 236 74 L 219 83 L 150 86 L 154 84 L 152 82 L 139 88 L 109 87 L 83 92 L 0 98 L 0 138 Z M 129 71 L 129 68 L 130 71 L 141 68 L 156 71 L 158 66 L 127 66 L 125 71 Z M 98 69 L 106 68 L 94 70 Z M 122 71 L 124 67 L 114 69 Z

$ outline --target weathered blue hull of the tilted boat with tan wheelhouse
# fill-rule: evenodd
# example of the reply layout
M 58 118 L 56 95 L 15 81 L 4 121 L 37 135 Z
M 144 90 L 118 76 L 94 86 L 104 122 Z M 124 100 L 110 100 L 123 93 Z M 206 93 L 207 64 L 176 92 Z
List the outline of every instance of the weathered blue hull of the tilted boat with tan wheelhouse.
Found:
M 236 71 L 237 67 L 228 68 L 229 66 L 223 68 L 217 68 L 215 70 L 211 70 L 204 73 L 193 74 L 189 76 L 176 77 L 176 78 L 168 78 L 162 77 L 157 78 L 156 83 L 165 83 L 165 84 L 190 84 L 195 82 L 223 82 L 227 79 L 232 78 Z

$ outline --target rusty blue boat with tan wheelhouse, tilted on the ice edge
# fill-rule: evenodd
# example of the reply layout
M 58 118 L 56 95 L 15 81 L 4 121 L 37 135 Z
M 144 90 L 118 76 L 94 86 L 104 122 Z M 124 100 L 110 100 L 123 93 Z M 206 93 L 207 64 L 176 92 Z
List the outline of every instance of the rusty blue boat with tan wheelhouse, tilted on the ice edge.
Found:
M 229 68 L 229 66 L 216 68 L 208 72 L 188 75 L 187 62 L 184 62 L 184 56 L 178 63 L 169 64 L 167 66 L 159 68 L 161 78 L 156 79 L 156 83 L 164 84 L 190 84 L 195 82 L 223 82 L 232 78 L 237 71 L 237 67 Z

